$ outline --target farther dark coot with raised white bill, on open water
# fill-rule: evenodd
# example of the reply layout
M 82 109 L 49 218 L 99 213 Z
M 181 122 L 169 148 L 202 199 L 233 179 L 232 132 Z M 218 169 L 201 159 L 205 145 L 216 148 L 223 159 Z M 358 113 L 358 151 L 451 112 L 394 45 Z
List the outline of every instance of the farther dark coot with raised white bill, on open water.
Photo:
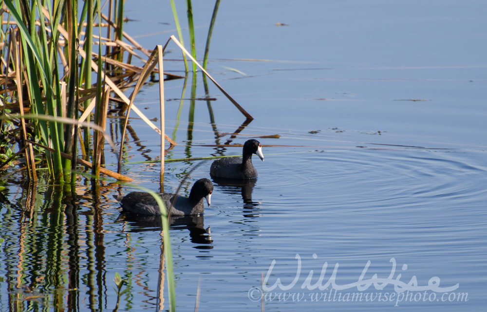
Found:
M 226 157 L 217 159 L 211 164 L 210 175 L 213 178 L 225 179 L 252 179 L 257 177 L 257 170 L 252 165 L 252 154 L 256 154 L 264 161 L 261 143 L 257 140 L 248 140 L 244 144 L 243 158 Z

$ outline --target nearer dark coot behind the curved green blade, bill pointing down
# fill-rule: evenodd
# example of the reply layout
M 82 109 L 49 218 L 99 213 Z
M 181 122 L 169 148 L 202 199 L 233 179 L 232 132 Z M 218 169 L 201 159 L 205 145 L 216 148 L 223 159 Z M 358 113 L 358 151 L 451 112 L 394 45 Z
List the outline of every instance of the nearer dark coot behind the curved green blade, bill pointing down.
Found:
M 208 179 L 200 179 L 193 184 L 189 197 L 171 193 L 162 193 L 159 196 L 164 201 L 166 209 L 170 208 L 170 214 L 174 216 L 196 215 L 203 213 L 205 207 L 203 198 L 206 198 L 208 206 L 213 192 L 213 184 Z M 124 212 L 139 215 L 160 215 L 159 205 L 155 199 L 145 192 L 132 192 L 126 196 L 115 196 L 122 205 Z

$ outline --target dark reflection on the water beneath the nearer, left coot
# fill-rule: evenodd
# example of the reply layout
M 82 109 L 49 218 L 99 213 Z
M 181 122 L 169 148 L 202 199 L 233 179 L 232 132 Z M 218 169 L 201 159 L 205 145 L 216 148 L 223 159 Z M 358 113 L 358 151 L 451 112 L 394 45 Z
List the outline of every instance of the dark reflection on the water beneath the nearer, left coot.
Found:
M 128 222 L 131 225 L 130 232 L 160 231 L 162 228 L 161 216 L 143 216 L 122 212 L 116 222 Z M 203 215 L 171 216 L 169 220 L 171 230 L 189 231 L 190 241 L 195 244 L 208 245 L 204 249 L 211 249 L 213 243 L 210 228 L 205 228 Z

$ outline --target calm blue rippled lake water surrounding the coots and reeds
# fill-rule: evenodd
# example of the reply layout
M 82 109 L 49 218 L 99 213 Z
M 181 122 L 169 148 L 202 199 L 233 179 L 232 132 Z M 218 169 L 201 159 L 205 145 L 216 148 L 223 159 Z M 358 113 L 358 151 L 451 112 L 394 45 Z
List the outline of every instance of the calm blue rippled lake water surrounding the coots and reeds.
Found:
M 175 34 L 165 2 L 126 2 L 125 31 L 146 48 Z M 213 3 L 194 2 L 202 56 Z M 166 160 L 240 155 L 211 145 L 252 137 L 265 161 L 254 157 L 255 184 L 215 182 L 204 216 L 174 220 L 176 310 L 484 311 L 487 3 L 227 2 L 208 69 L 255 119 L 239 129 L 245 118 L 210 85 L 211 110 L 195 101 L 189 122 L 179 99 L 205 96 L 201 74 L 193 95 L 191 74 L 184 94 L 182 79 L 166 82 L 166 133 L 178 143 Z M 181 62 L 164 66 L 184 74 Z M 152 118 L 157 102 L 148 85 L 136 105 Z M 96 191 L 80 178 L 71 196 L 52 181 L 32 193 L 8 180 L 0 311 L 112 311 L 115 273 L 127 280 L 118 311 L 169 309 L 159 224 L 120 218 L 113 199 L 159 190 L 159 165 L 144 163 L 158 159 L 159 137 L 131 117 L 132 185 L 107 179 Z M 211 161 L 167 162 L 165 191 L 198 164 L 184 194 Z

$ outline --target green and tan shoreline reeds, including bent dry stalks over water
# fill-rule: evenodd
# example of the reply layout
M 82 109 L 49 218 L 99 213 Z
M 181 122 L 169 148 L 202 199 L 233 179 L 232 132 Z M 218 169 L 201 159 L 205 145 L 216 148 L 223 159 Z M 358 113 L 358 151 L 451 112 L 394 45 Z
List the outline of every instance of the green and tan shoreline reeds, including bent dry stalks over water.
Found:
M 100 179 L 100 174 L 115 178 L 120 183 L 132 181 L 130 177 L 120 173 L 120 168 L 124 135 L 129 114 L 133 111 L 150 128 L 161 134 L 161 188 L 163 188 L 165 140 L 171 147 L 176 145 L 164 134 L 164 75 L 167 79 L 181 78 L 163 72 L 163 52 L 170 41 L 181 49 L 186 72 L 186 59 L 192 61 L 193 79 L 194 73 L 199 68 L 204 74 L 204 79 L 206 77 L 210 79 L 244 114 L 248 122 L 253 119 L 206 71 L 210 37 L 218 4 L 219 0 L 215 3 L 208 30 L 202 66 L 196 60 L 190 0 L 187 0 L 187 18 L 191 53 L 184 47 L 172 0 L 171 6 L 180 40 L 170 36 L 164 46 L 156 45 L 153 50 L 143 48 L 123 31 L 123 1 L 108 0 L 104 4 L 108 7 L 108 16 L 102 13 L 99 0 L 84 1 L 80 11 L 78 11 L 77 1 L 41 3 L 19 0 L 15 4 L 10 0 L 2 1 L 0 154 L 2 148 L 4 150 L 8 148 L 9 152 L 3 159 L 3 163 L 0 162 L 0 168 L 12 160 L 20 159 L 22 153 L 25 154 L 25 169 L 28 172 L 29 182 L 34 183 L 33 189 L 37 181 L 37 170 L 41 170 L 42 167 L 47 167 L 49 177 L 61 185 L 61 189 L 63 185 L 68 188 L 75 186 L 76 176 L 80 175 L 77 165 L 91 169 L 88 175 L 93 181 L 95 194 L 99 193 L 99 185 L 96 181 Z M 106 37 L 102 36 L 103 28 L 106 29 Z M 98 49 L 94 48 L 96 45 Z M 140 51 L 145 57 L 139 56 L 135 51 Z M 133 59 L 142 61 L 144 65 L 133 65 Z M 147 79 L 155 74 L 159 75 L 160 128 L 133 104 Z M 192 98 L 196 94 L 195 86 L 196 83 L 193 81 Z M 123 91 L 129 88 L 132 88 L 132 92 L 131 96 L 127 97 Z M 124 118 L 123 135 L 117 153 L 119 160 L 117 172 L 103 168 L 105 141 L 112 145 L 113 151 L 117 150 L 105 131 L 109 103 L 114 98 L 119 103 L 118 114 Z M 192 105 L 194 107 L 194 101 Z M 93 111 L 94 118 L 91 117 Z M 17 152 L 13 152 L 15 147 L 18 148 Z M 158 199 L 154 192 L 146 191 L 150 192 L 156 200 Z M 159 206 L 164 212 L 166 211 L 162 202 Z M 162 214 L 161 219 L 163 254 L 166 257 L 168 274 L 169 309 L 174 311 L 175 292 L 169 220 L 166 214 Z

